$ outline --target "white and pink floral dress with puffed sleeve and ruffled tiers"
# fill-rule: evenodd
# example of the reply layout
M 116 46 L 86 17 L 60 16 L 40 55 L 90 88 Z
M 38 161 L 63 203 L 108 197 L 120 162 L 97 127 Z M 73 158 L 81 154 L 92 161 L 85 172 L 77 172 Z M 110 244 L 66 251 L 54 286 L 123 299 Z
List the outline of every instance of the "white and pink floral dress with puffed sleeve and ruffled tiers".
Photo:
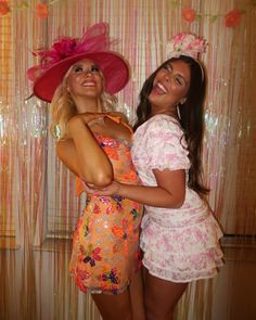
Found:
M 144 185 L 156 185 L 152 169 L 190 168 L 187 143 L 179 123 L 155 115 L 133 136 L 133 164 Z M 172 282 L 210 278 L 222 266 L 222 232 L 208 206 L 189 187 L 180 208 L 145 206 L 142 218 L 142 264 L 150 273 Z

